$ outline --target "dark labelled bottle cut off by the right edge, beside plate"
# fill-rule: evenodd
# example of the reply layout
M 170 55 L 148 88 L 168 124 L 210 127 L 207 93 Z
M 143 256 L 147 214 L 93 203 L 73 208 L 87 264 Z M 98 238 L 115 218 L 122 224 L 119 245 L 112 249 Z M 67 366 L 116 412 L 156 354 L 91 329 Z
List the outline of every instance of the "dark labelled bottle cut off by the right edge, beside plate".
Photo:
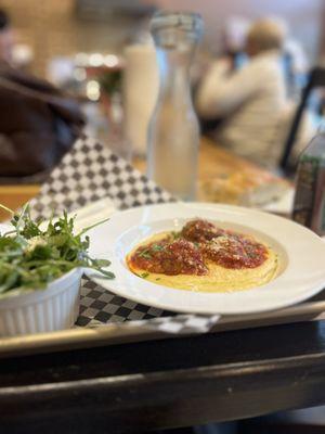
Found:
M 292 218 L 325 235 L 325 129 L 320 129 L 299 158 Z

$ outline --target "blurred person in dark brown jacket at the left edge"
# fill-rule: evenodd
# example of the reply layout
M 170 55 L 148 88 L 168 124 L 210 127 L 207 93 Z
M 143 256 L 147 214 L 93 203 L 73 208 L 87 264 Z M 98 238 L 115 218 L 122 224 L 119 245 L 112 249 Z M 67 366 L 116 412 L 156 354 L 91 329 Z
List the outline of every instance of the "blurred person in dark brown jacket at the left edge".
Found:
M 0 182 L 41 181 L 81 133 L 83 115 L 75 99 L 13 66 L 12 31 L 0 10 Z

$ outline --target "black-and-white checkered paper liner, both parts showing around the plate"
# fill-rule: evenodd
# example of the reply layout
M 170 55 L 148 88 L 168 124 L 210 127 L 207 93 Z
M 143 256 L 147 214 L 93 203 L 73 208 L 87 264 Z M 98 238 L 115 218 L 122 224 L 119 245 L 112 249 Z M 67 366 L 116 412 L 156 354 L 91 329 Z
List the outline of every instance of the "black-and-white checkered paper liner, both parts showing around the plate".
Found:
M 88 137 L 80 138 L 64 156 L 30 202 L 35 218 L 73 212 L 104 197 L 119 209 L 174 201 L 125 159 Z M 208 331 L 219 316 L 174 315 L 117 296 L 89 279 L 82 280 L 80 311 L 76 326 L 99 327 L 129 321 L 170 333 Z

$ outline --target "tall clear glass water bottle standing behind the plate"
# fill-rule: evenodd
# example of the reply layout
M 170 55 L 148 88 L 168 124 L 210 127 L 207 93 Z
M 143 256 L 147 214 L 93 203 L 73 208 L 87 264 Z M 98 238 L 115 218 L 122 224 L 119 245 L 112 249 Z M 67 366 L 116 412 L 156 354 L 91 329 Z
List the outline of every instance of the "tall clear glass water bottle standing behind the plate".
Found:
M 148 126 L 147 175 L 183 200 L 195 197 L 199 126 L 190 66 L 203 34 L 195 13 L 158 12 L 151 22 L 159 68 L 159 94 Z

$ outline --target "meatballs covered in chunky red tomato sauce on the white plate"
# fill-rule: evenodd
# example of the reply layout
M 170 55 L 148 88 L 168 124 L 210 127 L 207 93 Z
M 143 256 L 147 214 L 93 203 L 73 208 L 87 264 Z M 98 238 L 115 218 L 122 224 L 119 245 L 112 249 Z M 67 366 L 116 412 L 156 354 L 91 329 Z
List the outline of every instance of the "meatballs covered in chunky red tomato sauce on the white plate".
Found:
M 196 219 L 177 234 L 138 247 L 130 261 L 147 272 L 204 276 L 208 273 L 209 261 L 244 269 L 259 267 L 266 258 L 266 247 L 252 238 Z

